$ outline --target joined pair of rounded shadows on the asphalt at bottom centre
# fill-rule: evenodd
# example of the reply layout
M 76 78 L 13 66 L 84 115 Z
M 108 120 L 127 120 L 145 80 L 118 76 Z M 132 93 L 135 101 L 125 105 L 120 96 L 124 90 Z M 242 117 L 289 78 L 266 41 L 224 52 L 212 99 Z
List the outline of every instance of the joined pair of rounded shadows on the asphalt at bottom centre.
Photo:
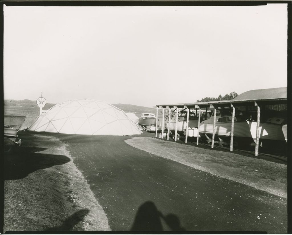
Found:
M 172 231 L 186 231 L 180 226 L 178 216 L 174 214 L 164 216 L 151 201 L 147 201 L 139 207 L 131 231 L 163 231 L 161 219 Z

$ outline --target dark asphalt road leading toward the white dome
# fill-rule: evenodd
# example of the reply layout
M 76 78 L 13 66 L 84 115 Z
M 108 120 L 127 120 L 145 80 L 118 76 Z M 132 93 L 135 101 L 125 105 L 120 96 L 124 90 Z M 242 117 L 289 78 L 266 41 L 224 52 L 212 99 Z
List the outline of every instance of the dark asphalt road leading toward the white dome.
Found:
M 113 231 L 287 233 L 284 198 L 133 148 L 124 142 L 131 136 L 58 138 Z

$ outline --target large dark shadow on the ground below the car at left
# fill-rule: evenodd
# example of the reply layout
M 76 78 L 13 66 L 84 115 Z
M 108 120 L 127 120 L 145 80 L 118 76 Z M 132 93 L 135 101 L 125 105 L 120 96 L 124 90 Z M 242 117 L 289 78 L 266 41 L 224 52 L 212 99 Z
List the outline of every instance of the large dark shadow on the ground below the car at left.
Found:
M 34 153 L 43 148 L 25 147 L 14 154 L 4 155 L 4 180 L 22 179 L 39 169 L 62 165 L 70 161 L 67 156 Z

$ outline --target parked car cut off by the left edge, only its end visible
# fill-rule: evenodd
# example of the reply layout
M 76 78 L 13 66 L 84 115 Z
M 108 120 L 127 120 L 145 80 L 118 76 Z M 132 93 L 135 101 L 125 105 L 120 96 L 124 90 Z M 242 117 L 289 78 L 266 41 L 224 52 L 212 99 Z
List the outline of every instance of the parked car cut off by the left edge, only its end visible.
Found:
M 13 153 L 16 145 L 21 145 L 18 138 L 17 129 L 11 126 L 4 126 L 4 153 Z

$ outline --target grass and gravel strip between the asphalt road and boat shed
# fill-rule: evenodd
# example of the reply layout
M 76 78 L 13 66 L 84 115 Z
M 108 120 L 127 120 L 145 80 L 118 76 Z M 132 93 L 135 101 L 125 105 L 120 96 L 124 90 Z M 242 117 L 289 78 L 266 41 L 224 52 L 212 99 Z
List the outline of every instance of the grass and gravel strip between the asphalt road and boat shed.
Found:
M 134 137 L 125 142 L 148 153 L 287 198 L 284 164 L 152 137 Z

